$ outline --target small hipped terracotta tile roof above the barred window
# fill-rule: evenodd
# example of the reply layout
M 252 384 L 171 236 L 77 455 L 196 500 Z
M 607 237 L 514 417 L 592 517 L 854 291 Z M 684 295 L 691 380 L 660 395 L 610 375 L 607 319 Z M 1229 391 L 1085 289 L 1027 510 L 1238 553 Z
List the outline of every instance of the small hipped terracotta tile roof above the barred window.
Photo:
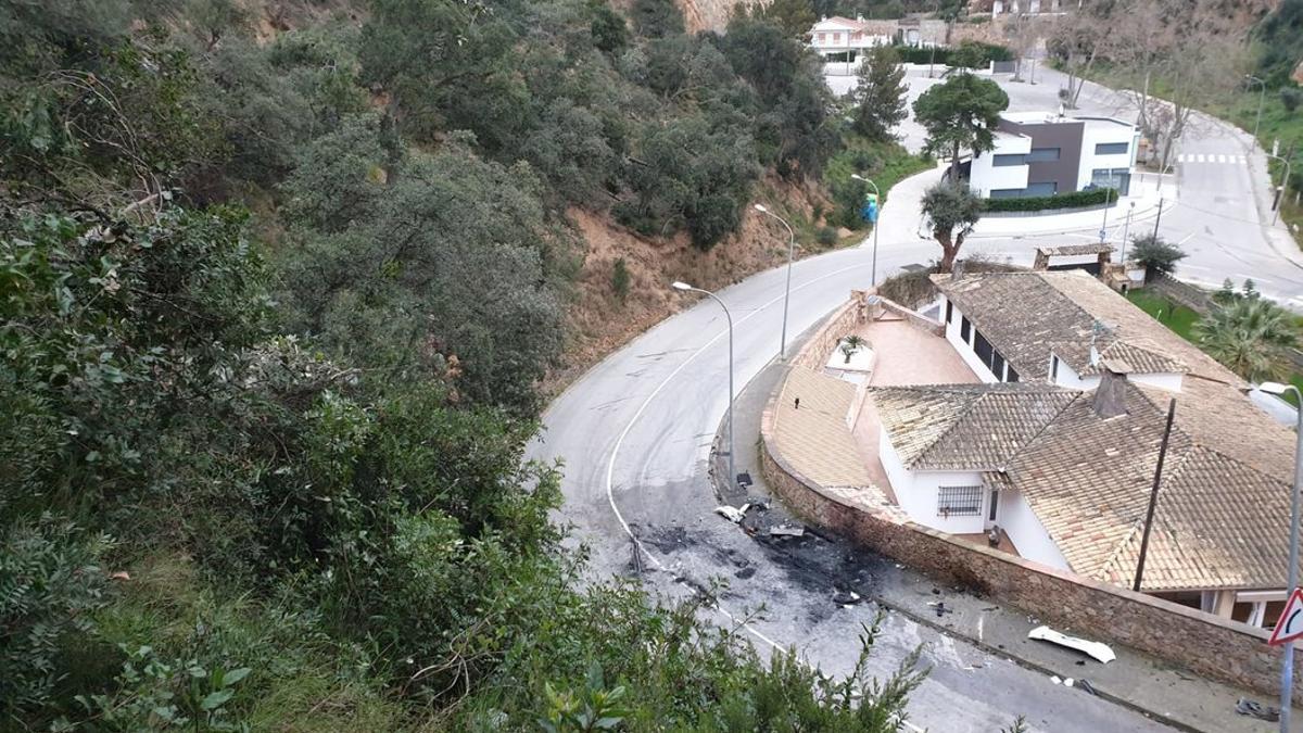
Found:
M 870 390 L 891 446 L 915 471 L 1001 470 L 1079 394 L 1036 382 Z

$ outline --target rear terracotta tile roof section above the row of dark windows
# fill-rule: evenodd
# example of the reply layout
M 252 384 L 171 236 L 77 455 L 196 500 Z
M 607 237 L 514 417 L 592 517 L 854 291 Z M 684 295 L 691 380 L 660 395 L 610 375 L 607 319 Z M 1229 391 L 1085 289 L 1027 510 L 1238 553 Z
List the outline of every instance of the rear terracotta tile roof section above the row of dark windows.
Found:
M 1134 373 L 1192 373 L 1240 386 L 1243 380 L 1081 270 L 934 275 L 942 293 L 1019 374 L 1049 374 L 1050 352 L 1079 374 L 1100 356 Z

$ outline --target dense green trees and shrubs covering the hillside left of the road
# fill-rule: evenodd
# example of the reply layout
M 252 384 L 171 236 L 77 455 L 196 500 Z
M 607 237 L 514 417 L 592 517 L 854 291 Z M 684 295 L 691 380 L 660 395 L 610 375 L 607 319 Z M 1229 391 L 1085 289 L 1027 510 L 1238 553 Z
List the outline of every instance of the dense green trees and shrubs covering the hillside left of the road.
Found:
M 580 583 L 521 463 L 568 213 L 722 249 L 837 149 L 775 26 L 629 16 L 0 5 L 0 729 L 896 729 L 913 660 Z

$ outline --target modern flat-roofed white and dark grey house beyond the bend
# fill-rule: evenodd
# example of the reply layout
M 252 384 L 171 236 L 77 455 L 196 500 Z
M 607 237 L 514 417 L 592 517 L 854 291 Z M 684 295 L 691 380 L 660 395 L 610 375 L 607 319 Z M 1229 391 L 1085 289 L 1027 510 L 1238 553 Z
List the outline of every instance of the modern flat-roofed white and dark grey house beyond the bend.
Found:
M 1131 190 L 1140 133 L 1113 117 L 1006 112 L 995 147 L 976 155 L 968 185 L 984 198 L 1054 196 L 1089 187 Z

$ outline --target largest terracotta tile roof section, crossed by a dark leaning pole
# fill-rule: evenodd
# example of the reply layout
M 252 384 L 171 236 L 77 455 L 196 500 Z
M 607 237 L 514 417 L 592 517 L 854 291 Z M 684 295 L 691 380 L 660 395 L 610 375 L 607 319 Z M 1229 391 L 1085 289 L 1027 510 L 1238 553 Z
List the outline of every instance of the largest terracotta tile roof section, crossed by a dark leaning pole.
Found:
M 1230 455 L 1251 455 L 1239 447 L 1248 442 L 1243 437 L 1204 442 L 1220 434 L 1209 428 L 1220 415 L 1197 396 L 1131 383 L 1127 415 L 1109 420 L 1095 413 L 1092 396 L 1085 393 L 1063 410 L 1006 472 L 1074 571 L 1131 584 L 1167 399 L 1175 396 L 1143 590 L 1285 584 L 1289 479 L 1277 473 L 1278 462 Z M 1240 400 L 1233 412 L 1257 412 Z M 1283 436 L 1270 433 L 1252 453 L 1291 456 L 1282 450 Z

